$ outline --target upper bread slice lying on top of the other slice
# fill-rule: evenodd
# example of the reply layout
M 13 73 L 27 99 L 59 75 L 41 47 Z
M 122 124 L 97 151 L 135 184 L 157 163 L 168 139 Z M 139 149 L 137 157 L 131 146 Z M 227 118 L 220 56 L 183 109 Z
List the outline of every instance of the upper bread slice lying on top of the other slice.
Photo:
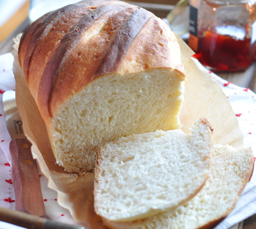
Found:
M 115 222 L 143 219 L 186 202 L 208 177 L 211 126 L 200 118 L 192 135 L 180 130 L 137 134 L 97 154 L 95 211 Z

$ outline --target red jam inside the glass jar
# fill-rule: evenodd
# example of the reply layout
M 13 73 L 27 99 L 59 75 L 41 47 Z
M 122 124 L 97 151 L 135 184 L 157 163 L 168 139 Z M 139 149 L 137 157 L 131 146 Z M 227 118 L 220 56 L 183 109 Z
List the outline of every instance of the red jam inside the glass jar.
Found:
M 213 71 L 243 71 L 256 59 L 256 42 L 210 30 L 199 38 L 193 57 Z

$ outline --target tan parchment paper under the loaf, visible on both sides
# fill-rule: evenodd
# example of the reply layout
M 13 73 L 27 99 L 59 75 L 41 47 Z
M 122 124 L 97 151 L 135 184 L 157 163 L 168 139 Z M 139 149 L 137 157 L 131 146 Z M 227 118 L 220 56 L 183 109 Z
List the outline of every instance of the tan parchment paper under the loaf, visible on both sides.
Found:
M 214 144 L 229 144 L 238 147 L 243 144 L 243 135 L 238 121 L 226 96 L 219 85 L 211 78 L 207 70 L 191 58 L 192 50 L 177 37 L 181 48 L 181 61 L 185 65 L 188 82 L 185 85 L 185 101 L 180 119 L 183 131 L 190 133 L 197 118 L 205 117 L 214 129 Z M 106 228 L 93 210 L 94 173 L 79 176 L 65 172 L 55 164 L 45 123 L 38 111 L 18 64 L 18 42 L 14 46 L 13 73 L 16 80 L 16 103 L 23 120 L 24 132 L 32 143 L 32 153 L 40 169 L 48 178 L 48 186 L 57 191 L 60 206 L 67 208 L 71 216 L 80 224 L 92 229 Z

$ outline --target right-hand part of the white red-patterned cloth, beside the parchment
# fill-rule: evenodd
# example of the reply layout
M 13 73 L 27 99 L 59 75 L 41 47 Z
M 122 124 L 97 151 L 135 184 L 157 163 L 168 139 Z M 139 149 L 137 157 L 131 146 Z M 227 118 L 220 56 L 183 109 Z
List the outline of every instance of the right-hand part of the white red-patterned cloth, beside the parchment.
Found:
M 229 99 L 233 111 L 238 118 L 238 125 L 243 133 L 244 147 L 251 147 L 256 156 L 256 95 L 249 89 L 238 87 L 211 73 Z M 254 158 L 255 161 L 255 158 Z M 256 175 L 241 194 L 235 209 L 219 224 L 216 229 L 227 229 L 234 224 L 256 213 Z

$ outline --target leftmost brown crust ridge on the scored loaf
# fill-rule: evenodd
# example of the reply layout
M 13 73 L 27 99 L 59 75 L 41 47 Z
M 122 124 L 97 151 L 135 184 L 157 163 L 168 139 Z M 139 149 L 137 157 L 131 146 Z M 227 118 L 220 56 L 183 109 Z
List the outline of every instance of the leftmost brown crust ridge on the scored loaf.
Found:
M 114 1 L 112 2 L 114 3 Z M 37 101 L 38 87 L 45 70 L 46 64 L 60 45 L 60 40 L 76 24 L 82 16 L 86 15 L 95 5 L 104 5 L 106 1 L 86 1 L 78 4 L 67 5 L 57 12 L 53 12 L 41 22 L 34 35 L 34 40 L 29 42 L 24 62 L 24 72 L 32 95 Z M 37 37 L 39 37 L 37 39 Z M 21 45 L 24 47 L 24 45 Z M 29 77 L 28 77 L 29 76 Z

